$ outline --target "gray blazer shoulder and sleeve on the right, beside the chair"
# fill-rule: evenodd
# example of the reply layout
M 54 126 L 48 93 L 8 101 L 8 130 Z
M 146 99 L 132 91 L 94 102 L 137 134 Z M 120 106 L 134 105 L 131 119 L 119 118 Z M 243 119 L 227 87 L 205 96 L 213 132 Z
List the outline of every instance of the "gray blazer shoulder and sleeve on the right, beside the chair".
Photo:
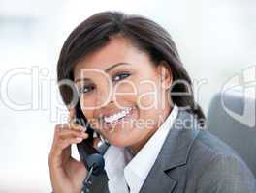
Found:
M 256 192 L 255 177 L 226 143 L 200 130 L 188 158 L 196 192 Z

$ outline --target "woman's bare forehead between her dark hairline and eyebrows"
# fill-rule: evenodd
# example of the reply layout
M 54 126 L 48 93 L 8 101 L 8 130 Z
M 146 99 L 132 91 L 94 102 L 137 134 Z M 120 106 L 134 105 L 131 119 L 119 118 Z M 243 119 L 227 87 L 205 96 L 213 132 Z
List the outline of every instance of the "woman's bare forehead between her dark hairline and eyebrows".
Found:
M 89 54 L 75 67 L 75 76 L 81 69 L 104 70 L 117 63 L 142 64 L 149 62 L 148 56 L 124 38 L 111 38 L 101 49 Z

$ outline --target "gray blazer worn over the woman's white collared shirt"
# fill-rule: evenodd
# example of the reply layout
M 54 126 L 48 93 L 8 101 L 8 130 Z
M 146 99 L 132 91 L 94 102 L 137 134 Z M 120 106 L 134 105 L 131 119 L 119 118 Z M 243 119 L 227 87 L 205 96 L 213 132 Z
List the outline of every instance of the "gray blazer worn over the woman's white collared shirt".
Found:
M 184 124 L 185 123 L 185 124 Z M 178 111 L 140 193 L 256 193 L 253 174 L 224 142 Z M 94 177 L 92 193 L 109 193 L 106 174 Z

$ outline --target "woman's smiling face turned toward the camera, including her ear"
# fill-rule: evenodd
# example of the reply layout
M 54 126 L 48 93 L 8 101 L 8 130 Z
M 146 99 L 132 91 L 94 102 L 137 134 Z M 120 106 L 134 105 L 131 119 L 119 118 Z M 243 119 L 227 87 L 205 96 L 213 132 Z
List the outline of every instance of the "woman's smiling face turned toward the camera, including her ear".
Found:
M 171 110 L 171 71 L 122 37 L 80 61 L 74 70 L 80 105 L 112 145 L 139 151 Z

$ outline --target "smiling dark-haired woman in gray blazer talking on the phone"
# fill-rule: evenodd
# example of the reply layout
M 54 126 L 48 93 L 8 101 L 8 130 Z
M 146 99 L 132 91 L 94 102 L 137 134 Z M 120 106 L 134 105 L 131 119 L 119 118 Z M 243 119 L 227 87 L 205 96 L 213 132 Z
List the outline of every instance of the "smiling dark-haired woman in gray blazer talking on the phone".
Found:
M 90 16 L 65 41 L 57 74 L 71 82 L 60 86 L 70 119 L 78 99 L 86 123 L 111 144 L 106 173 L 91 192 L 256 192 L 239 155 L 201 129 L 205 116 L 176 45 L 153 21 L 118 12 Z M 88 134 L 68 128 L 56 125 L 49 153 L 55 193 L 80 192 L 88 174 L 71 157 L 71 144 Z

